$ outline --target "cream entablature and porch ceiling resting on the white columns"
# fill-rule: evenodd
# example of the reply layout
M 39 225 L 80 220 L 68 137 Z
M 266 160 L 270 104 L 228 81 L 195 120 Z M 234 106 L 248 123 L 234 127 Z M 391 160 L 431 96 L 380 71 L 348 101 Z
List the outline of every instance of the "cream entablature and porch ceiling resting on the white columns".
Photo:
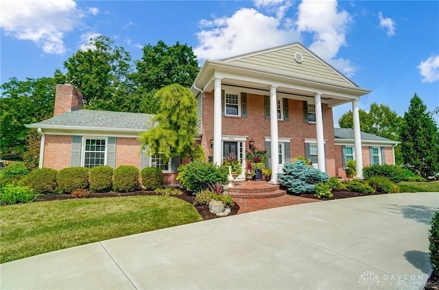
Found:
M 279 97 L 305 101 L 313 101 L 316 93 L 320 93 L 322 103 L 331 107 L 346 104 L 370 93 L 370 90 L 358 86 L 318 82 L 300 75 L 248 69 L 213 60 L 206 60 L 194 85 L 203 91 L 211 92 L 216 77 L 222 78 L 224 88 L 235 88 L 245 93 L 270 95 L 270 87 L 276 86 Z

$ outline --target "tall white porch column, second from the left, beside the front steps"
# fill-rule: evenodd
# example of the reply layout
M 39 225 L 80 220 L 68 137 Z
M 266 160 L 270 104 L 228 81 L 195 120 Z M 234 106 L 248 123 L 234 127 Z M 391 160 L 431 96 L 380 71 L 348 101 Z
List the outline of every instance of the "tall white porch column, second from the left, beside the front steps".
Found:
M 272 179 L 270 183 L 278 184 L 277 173 L 279 173 L 279 160 L 278 160 L 278 144 L 279 136 L 277 130 L 277 96 L 276 86 L 270 88 L 270 132 L 271 132 L 271 167 L 272 167 Z

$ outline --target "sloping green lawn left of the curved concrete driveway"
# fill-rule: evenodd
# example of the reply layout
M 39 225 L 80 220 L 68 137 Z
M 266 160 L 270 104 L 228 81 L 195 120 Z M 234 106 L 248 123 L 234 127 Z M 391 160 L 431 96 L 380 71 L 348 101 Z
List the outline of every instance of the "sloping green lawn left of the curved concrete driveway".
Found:
M 165 196 L 2 206 L 0 263 L 195 221 L 202 221 L 202 217 L 191 204 Z

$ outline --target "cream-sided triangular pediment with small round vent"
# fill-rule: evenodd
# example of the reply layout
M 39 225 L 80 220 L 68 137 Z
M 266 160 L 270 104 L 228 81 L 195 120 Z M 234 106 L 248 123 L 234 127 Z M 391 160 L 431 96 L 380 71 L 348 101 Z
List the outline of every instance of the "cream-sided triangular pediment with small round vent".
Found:
M 300 43 L 284 45 L 222 60 L 249 69 L 302 77 L 325 84 L 358 87 Z

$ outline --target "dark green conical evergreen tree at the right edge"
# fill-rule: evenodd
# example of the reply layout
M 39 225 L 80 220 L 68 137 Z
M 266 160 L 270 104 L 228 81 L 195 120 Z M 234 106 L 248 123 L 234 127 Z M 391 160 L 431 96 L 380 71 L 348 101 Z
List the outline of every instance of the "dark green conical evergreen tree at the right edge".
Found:
M 439 129 L 416 94 L 404 114 L 400 134 L 405 166 L 424 178 L 436 175 L 439 172 Z

